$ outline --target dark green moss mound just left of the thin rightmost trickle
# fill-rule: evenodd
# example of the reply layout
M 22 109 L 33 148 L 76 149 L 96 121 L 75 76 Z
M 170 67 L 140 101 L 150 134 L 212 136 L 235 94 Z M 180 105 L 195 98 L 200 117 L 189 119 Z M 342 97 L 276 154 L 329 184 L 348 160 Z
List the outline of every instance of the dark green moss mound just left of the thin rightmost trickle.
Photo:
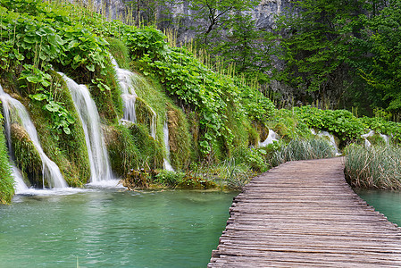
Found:
M 139 151 L 139 167 L 146 169 L 163 168 L 163 149 L 159 142 L 152 138 L 143 124 L 129 127 L 135 146 Z

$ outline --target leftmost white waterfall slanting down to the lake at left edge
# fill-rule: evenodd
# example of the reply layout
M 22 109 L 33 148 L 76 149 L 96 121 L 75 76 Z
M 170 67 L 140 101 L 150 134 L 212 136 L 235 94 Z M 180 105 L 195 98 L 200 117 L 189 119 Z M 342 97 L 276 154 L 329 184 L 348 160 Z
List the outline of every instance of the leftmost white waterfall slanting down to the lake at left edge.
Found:
M 38 150 L 38 154 L 42 161 L 43 180 L 44 181 L 46 180 L 50 188 L 67 188 L 68 185 L 63 179 L 62 172 L 60 172 L 60 169 L 58 168 L 57 164 L 55 164 L 52 160 L 50 160 L 50 158 L 48 158 L 45 152 L 43 151 L 43 148 L 41 147 L 39 142 L 38 132 L 35 128 L 35 125 L 30 120 L 29 113 L 27 109 L 25 109 L 25 106 L 22 105 L 18 100 L 14 99 L 12 96 L 6 94 L 1 86 L 0 86 L 0 100 L 3 103 L 4 118 L 6 123 L 5 132 L 7 136 L 7 143 L 10 147 L 10 151 L 12 151 L 11 135 L 10 135 L 11 132 L 10 108 L 13 108 L 15 109 L 15 112 L 17 113 L 18 117 L 21 120 L 22 127 L 27 131 L 27 134 L 30 140 L 32 141 L 32 144 Z M 14 174 L 17 174 L 14 175 L 14 178 L 17 178 L 18 172 L 14 172 Z M 16 180 L 19 180 L 19 178 L 17 178 Z M 43 187 L 45 187 L 45 183 Z

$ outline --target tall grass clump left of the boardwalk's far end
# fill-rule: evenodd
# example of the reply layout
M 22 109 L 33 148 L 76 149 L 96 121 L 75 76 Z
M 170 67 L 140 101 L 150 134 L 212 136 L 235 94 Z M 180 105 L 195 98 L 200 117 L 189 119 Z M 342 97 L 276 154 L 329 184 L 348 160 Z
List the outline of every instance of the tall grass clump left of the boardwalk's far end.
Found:
M 287 161 L 329 158 L 335 155 L 328 140 L 324 138 L 293 139 L 286 147 L 272 155 L 272 166 Z

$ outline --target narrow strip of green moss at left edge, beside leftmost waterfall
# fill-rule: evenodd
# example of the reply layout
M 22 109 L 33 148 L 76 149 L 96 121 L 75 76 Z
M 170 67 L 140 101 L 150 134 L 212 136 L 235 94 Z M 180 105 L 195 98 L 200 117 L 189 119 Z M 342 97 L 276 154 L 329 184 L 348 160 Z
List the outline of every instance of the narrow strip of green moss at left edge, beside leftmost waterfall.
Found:
M 0 115 L 1 118 L 1 115 Z M 3 120 L 0 120 L 2 123 Z M 0 204 L 9 204 L 14 195 L 14 180 L 8 158 L 3 124 L 0 125 Z

